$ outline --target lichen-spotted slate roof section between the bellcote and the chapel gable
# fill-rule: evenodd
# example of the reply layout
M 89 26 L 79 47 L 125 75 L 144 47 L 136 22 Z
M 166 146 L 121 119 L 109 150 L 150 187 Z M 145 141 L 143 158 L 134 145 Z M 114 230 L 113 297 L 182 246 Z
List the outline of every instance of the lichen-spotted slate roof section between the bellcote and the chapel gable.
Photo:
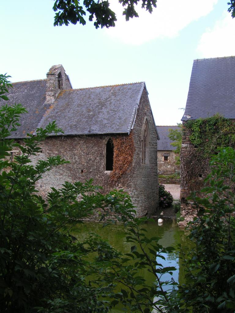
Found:
M 62 91 L 39 127 L 56 120 L 66 135 L 128 133 L 144 82 Z

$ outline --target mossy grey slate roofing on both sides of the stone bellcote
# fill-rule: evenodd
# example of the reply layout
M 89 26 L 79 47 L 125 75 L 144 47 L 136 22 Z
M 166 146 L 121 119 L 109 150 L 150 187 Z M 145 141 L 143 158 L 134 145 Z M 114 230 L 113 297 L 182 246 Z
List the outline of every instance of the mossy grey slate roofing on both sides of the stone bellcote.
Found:
M 46 80 L 14 83 L 9 90 L 10 103 L 20 102 L 28 113 L 22 115 L 22 125 L 11 137 L 26 137 L 52 121 L 65 135 L 129 134 L 144 85 L 63 90 L 52 105 L 45 105 Z

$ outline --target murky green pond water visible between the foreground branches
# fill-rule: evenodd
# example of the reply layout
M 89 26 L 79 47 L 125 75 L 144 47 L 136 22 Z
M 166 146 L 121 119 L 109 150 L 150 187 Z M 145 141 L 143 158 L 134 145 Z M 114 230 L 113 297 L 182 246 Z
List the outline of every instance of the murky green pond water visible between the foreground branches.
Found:
M 190 245 L 189 239 L 185 236 L 185 231 L 178 227 L 175 219 L 164 220 L 161 226 L 158 225 L 157 221 L 147 222 L 144 224 L 143 228 L 147 230 L 148 237 L 160 237 L 159 243 L 164 247 L 176 247 L 177 244 L 181 244 L 182 247 L 185 247 L 186 244 Z M 87 238 L 88 233 L 97 233 L 102 239 L 108 240 L 114 248 L 123 253 L 129 253 L 133 245 L 133 243 L 126 241 L 124 227 L 122 225 L 108 225 L 107 227 L 102 227 L 102 223 L 84 223 L 79 224 L 73 229 L 73 235 L 80 240 Z M 164 256 L 165 260 L 161 259 L 159 263 L 163 266 L 174 266 L 177 270 L 173 272 L 173 276 L 164 274 L 162 280 L 171 280 L 171 278 L 173 278 L 176 282 L 180 284 L 183 283 L 184 273 L 182 266 L 180 266 L 181 260 L 179 259 L 179 253 L 174 252 L 165 254 Z M 154 276 L 148 271 L 144 271 L 143 269 L 140 275 L 143 275 L 149 282 L 154 282 Z M 118 313 L 122 312 L 122 310 L 119 307 L 115 307 L 115 310 L 112 310 L 112 312 Z

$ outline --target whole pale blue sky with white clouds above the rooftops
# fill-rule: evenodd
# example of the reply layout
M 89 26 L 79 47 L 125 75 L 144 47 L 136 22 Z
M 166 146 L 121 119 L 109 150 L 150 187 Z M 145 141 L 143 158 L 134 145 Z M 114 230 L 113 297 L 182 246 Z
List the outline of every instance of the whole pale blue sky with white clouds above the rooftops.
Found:
M 145 81 L 157 125 L 180 122 L 194 59 L 235 55 L 227 0 L 159 0 L 151 15 L 114 29 L 54 27 L 52 0 L 0 1 L 0 73 L 12 82 L 44 79 L 62 64 L 73 88 Z

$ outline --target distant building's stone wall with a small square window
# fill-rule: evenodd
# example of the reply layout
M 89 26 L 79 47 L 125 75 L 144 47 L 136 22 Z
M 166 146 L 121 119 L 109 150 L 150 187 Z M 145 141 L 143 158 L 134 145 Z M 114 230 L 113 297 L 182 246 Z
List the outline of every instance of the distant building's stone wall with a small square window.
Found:
M 168 156 L 168 160 L 164 161 L 164 156 Z M 175 174 L 180 172 L 180 166 L 175 164 L 174 151 L 159 151 L 158 150 L 158 173 L 162 175 Z

